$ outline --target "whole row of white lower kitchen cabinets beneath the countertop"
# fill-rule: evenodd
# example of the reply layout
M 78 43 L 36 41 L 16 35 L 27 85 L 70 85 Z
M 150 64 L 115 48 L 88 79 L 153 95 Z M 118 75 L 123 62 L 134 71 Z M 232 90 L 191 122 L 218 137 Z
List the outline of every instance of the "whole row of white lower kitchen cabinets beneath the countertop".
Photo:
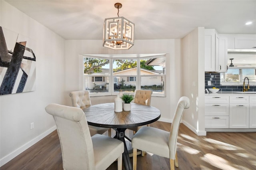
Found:
M 205 128 L 256 128 L 256 96 L 205 96 Z

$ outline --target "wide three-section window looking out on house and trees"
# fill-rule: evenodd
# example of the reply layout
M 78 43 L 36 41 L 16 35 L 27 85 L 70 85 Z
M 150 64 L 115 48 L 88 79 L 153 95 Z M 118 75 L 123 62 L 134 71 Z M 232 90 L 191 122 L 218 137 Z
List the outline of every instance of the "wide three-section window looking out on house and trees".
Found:
M 91 96 L 134 93 L 136 89 L 165 96 L 165 55 L 143 58 L 83 56 L 83 89 Z M 160 64 L 161 63 L 161 64 Z

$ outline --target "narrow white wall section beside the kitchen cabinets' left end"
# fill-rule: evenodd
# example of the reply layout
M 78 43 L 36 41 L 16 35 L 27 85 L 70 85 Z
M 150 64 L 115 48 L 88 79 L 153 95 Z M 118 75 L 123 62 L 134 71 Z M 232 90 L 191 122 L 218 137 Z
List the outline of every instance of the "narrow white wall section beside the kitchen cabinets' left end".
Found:
M 204 130 L 204 28 L 199 27 L 182 39 L 183 95 L 189 97 L 190 108 L 183 123 L 198 135 Z M 195 82 L 195 86 L 192 86 Z

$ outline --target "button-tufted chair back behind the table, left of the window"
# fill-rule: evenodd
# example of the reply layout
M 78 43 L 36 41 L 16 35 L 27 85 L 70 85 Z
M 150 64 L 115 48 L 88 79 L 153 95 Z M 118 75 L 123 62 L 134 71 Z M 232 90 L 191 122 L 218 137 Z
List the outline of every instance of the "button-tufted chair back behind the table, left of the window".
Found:
M 73 107 L 84 109 L 92 105 L 89 91 L 72 91 L 69 93 Z

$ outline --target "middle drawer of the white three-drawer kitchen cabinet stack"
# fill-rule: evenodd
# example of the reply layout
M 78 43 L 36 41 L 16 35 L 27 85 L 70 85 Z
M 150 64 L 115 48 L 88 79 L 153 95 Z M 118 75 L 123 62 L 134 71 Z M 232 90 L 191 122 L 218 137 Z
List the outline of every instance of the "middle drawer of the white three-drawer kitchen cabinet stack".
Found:
M 229 104 L 204 104 L 205 116 L 228 116 Z

